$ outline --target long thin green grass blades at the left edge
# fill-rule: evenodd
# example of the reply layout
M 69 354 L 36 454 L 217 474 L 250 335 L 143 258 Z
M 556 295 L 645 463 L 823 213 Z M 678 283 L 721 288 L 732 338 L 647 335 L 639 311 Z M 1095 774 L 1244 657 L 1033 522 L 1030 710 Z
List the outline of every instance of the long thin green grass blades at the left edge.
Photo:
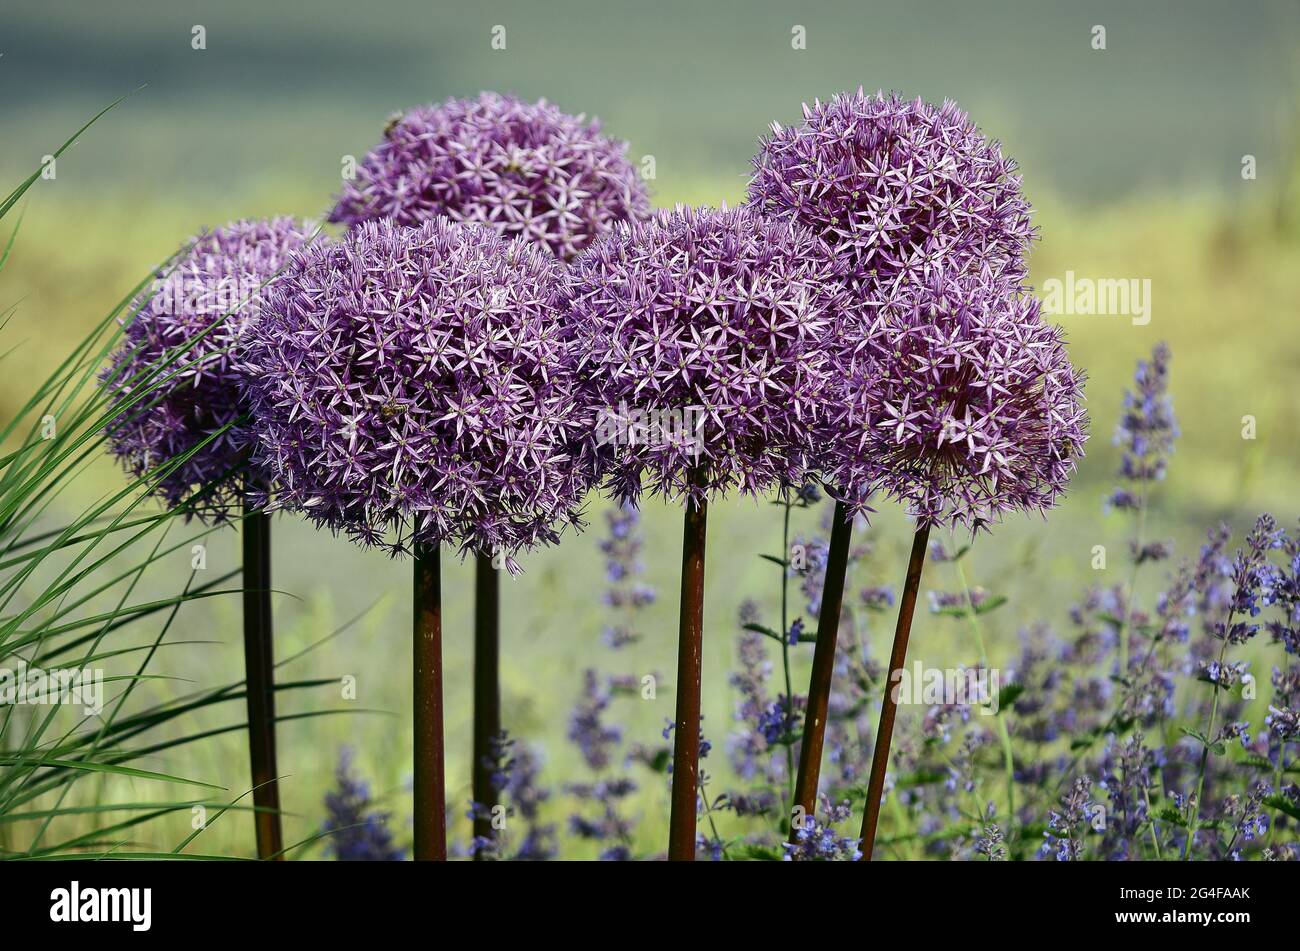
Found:
M 94 121 L 53 155 L 68 149 Z M 17 207 L 38 178 L 39 170 L 0 203 L 0 218 Z M 0 256 L 0 269 L 10 257 L 17 234 L 16 225 Z M 242 683 L 228 683 L 143 708 L 130 703 L 142 683 L 169 679 L 150 669 L 181 608 L 239 590 L 225 586 L 238 572 L 198 585 L 191 572 L 173 595 L 135 596 L 147 576 L 177 552 L 187 553 L 214 530 L 187 527 L 186 512 L 160 511 L 151 499 L 155 483 L 183 460 L 125 479 L 124 486 L 79 508 L 72 521 L 51 526 L 56 503 L 105 452 L 105 426 L 142 412 L 159 388 L 187 365 L 182 344 L 126 381 L 130 399 L 114 400 L 99 386 L 100 369 L 120 346 L 121 327 L 134 314 L 148 279 L 136 283 L 0 427 L 0 668 L 14 700 L 20 691 L 31 691 L 30 703 L 5 703 L 0 708 L 4 857 L 121 857 L 130 854 L 134 831 L 160 816 L 212 808 L 211 824 L 226 809 L 248 808 L 224 799 L 169 799 L 177 786 L 225 790 L 205 778 L 130 765 L 212 735 L 187 730 L 192 713 L 243 699 Z M 16 357 L 9 352 L 3 359 Z M 142 631 L 150 631 L 143 644 L 138 643 Z M 200 642 L 172 640 L 169 646 L 179 643 Z M 86 692 L 51 696 L 56 672 L 83 676 L 77 683 Z M 95 700 L 92 683 L 99 685 Z M 318 683 L 291 682 L 280 689 Z M 75 702 L 66 703 L 69 696 Z M 243 730 L 243 724 L 228 729 Z M 91 783 L 96 778 L 121 781 L 122 787 L 146 789 L 159 798 L 144 803 L 101 802 L 108 786 Z M 126 817 L 117 818 L 122 813 Z

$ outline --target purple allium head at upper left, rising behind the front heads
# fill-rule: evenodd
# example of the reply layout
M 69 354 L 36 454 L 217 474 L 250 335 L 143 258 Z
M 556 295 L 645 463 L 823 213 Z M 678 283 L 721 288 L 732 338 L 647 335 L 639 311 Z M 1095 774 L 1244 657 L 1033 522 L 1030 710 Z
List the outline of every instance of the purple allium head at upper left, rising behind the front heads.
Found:
M 365 156 L 330 221 L 481 222 L 571 260 L 650 209 L 627 143 L 542 100 L 484 92 L 411 109 Z

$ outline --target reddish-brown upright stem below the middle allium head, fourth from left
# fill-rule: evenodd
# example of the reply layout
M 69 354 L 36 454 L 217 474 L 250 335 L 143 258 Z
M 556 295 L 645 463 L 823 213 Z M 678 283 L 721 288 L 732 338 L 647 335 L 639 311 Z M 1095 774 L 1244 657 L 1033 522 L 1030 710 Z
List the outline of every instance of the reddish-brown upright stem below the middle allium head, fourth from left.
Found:
M 668 821 L 668 859 L 672 861 L 696 859 L 707 517 L 707 501 L 686 503 L 681 539 L 681 618 L 677 639 L 677 711 L 672 743 L 672 813 Z

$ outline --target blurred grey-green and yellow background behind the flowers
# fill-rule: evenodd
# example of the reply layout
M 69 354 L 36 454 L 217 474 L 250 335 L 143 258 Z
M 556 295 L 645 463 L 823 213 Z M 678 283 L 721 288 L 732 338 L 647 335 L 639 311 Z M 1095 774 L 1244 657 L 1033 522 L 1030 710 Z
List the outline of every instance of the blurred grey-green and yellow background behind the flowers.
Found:
M 207 48 L 191 48 L 192 27 Z M 494 26 L 507 48 L 490 48 Z M 803 26 L 806 49 L 792 49 Z M 1106 49 L 1091 45 L 1106 30 Z M 0 416 L 31 387 L 160 259 L 200 226 L 246 216 L 321 216 L 338 187 L 343 157 L 360 157 L 386 117 L 402 108 L 484 88 L 545 96 L 598 116 L 653 155 L 659 205 L 734 203 L 749 157 L 772 121 L 794 122 L 800 104 L 864 86 L 958 100 L 1022 166 L 1037 209 L 1041 242 L 1032 279 L 1074 270 L 1082 277 L 1152 282 L 1152 320 L 1062 318 L 1071 353 L 1089 377 L 1093 420 L 1070 496 L 1049 521 L 1011 520 L 982 538 L 972 582 L 1010 595 L 991 618 L 994 660 L 1015 646 L 1019 625 L 1060 622 L 1070 599 L 1093 582 L 1121 581 L 1127 524 L 1102 511 L 1118 453 L 1110 444 L 1134 362 L 1157 340 L 1173 352 L 1173 391 L 1183 435 L 1149 531 L 1195 552 L 1219 518 L 1244 530 L 1258 511 L 1283 522 L 1296 514 L 1300 463 L 1300 4 L 1222 3 L 385 3 L 316 0 L 272 5 L 5 0 L 0 10 L 0 174 L 16 182 L 88 116 L 117 96 L 126 103 L 87 133 L 26 200 L 13 259 L 0 281 L 0 307 L 18 304 L 4 348 L 21 344 L 0 377 Z M 1257 177 L 1242 175 L 1254 156 Z M 17 368 L 17 372 L 14 370 Z M 1257 438 L 1240 435 L 1243 416 Z M 64 505 L 118 483 L 108 464 Z M 567 712 L 585 666 L 610 673 L 660 672 L 654 702 L 618 713 L 628 741 L 653 743 L 672 713 L 677 512 L 647 503 L 647 581 L 660 600 L 649 637 L 612 652 L 598 633 L 603 585 L 595 537 L 606 503 L 593 498 L 593 530 L 525 560 L 504 585 L 504 722 L 545 750 L 543 778 L 580 777 L 566 743 Z M 277 524 L 278 652 L 289 656 L 344 620 L 364 617 L 294 661 L 282 676 L 358 678 L 356 713 L 289 724 L 281 730 L 287 839 L 309 835 L 338 747 L 351 743 L 390 807 L 406 816 L 410 774 L 408 566 L 360 552 L 291 520 Z M 815 518 L 803 529 L 815 527 Z M 907 533 L 884 507 L 870 530 L 879 577 L 897 586 Z M 767 505 L 734 500 L 710 524 L 706 730 L 718 744 L 734 698 L 725 668 L 734 653 L 736 608 L 777 602 L 780 525 Z M 1089 569 L 1091 548 L 1112 551 L 1112 569 Z M 220 533 L 209 570 L 237 559 L 233 531 Z M 468 800 L 469 569 L 447 566 L 448 790 L 459 816 Z M 970 570 L 970 569 L 968 569 Z M 188 572 L 178 556 L 176 590 Z M 1144 592 L 1158 590 L 1161 569 Z M 952 587 L 944 566 L 926 582 Z M 170 586 L 170 589 L 169 589 Z M 368 609 L 368 611 L 367 611 Z M 240 677 L 239 605 L 188 605 L 179 634 L 221 640 L 178 647 L 157 669 L 212 685 Z M 974 660 L 956 625 L 922 617 L 914 656 L 933 665 Z M 142 631 L 140 638 L 153 631 Z M 179 635 L 178 634 L 178 635 Z M 876 638 L 888 638 L 878 630 Z M 876 656 L 887 642 L 875 642 Z M 806 663 L 807 657 L 802 661 Z M 800 668 L 798 677 L 805 677 Z M 142 694 L 186 685 L 144 685 Z M 346 707 L 333 691 L 286 698 L 285 712 Z M 235 722 L 230 705 L 212 724 Z M 140 764 L 229 787 L 247 787 L 238 735 L 182 747 Z M 120 781 L 114 781 L 120 782 Z M 725 785 L 725 783 L 723 783 Z M 87 790 L 140 799 L 147 786 Z M 563 822 L 567 804 L 551 807 Z M 644 783 L 644 851 L 659 847 L 667 786 Z M 251 851 L 247 818 L 228 817 L 204 833 L 207 852 Z M 463 841 L 467 822 L 456 828 Z M 188 816 L 156 822 L 139 842 L 170 847 Z M 588 855 L 566 841 L 567 855 Z

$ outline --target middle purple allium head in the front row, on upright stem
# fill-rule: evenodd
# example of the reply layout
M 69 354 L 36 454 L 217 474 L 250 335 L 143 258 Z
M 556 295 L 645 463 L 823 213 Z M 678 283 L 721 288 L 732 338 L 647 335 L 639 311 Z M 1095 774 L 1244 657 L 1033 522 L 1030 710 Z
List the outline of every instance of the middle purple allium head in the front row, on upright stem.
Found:
M 569 316 L 615 495 L 802 485 L 833 385 L 833 272 L 806 229 L 745 208 L 663 212 L 573 264 Z

